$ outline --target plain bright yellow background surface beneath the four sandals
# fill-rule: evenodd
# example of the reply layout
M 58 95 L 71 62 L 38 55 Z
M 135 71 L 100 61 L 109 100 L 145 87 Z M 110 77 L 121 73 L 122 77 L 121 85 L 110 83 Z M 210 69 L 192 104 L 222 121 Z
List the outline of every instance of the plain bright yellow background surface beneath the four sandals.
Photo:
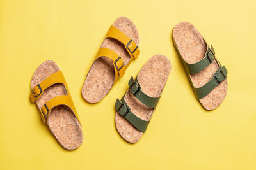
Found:
M 238 3 L 239 2 L 239 3 Z M 256 169 L 256 1 L 0 1 L 0 169 Z M 81 87 L 119 16 L 140 35 L 140 56 L 100 103 Z M 228 93 L 214 111 L 196 101 L 172 45 L 175 24 L 191 22 L 228 69 Z M 154 54 L 172 71 L 147 132 L 132 145 L 115 129 L 114 104 Z M 45 60 L 65 74 L 84 142 L 63 149 L 29 101 Z

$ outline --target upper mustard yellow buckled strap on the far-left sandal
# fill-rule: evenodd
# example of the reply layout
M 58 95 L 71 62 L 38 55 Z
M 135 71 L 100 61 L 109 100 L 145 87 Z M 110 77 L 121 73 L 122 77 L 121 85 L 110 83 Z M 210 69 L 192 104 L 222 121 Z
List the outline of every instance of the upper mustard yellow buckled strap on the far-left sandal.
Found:
M 42 94 L 44 94 L 45 89 L 47 89 L 48 87 L 56 83 L 62 83 L 67 90 L 67 83 L 65 81 L 62 71 L 58 71 L 56 73 L 51 74 L 50 76 L 45 78 L 45 80 L 41 81 L 41 83 L 36 85 L 31 90 L 31 94 L 30 94 L 31 102 L 34 103 L 35 101 L 37 101 L 39 97 L 42 96 Z

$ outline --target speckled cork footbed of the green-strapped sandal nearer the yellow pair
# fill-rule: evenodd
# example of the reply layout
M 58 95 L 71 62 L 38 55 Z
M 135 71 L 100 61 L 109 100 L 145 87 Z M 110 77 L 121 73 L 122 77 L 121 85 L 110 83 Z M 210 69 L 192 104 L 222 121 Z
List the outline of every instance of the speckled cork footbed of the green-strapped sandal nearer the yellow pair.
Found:
M 170 71 L 170 60 L 164 55 L 154 55 L 142 67 L 138 74 L 138 82 L 140 83 L 141 90 L 151 97 L 160 96 Z M 154 109 L 145 106 L 134 97 L 130 91 L 127 92 L 124 100 L 129 108 L 131 108 L 132 113 L 142 120 L 150 120 Z M 115 115 L 115 123 L 119 134 L 130 143 L 136 143 L 143 135 L 143 132 L 138 131 L 117 112 Z

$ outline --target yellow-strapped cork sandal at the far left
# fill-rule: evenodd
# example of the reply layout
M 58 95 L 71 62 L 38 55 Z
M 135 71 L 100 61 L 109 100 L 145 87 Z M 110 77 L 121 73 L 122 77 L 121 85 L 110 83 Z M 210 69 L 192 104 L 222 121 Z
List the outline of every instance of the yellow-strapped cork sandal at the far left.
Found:
M 38 106 L 42 121 L 47 122 L 61 146 L 74 150 L 83 143 L 76 108 L 65 78 L 54 61 L 47 60 L 36 69 L 31 80 L 30 99 Z

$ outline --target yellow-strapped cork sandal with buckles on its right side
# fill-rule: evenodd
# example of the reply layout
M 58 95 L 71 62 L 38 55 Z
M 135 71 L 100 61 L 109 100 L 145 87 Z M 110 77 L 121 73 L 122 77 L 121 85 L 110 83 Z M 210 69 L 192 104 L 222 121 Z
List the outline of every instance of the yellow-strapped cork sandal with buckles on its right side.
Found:
M 119 17 L 102 43 L 96 59 L 84 81 L 82 95 L 89 103 L 103 99 L 126 68 L 140 53 L 139 36 L 135 25 L 126 17 Z

